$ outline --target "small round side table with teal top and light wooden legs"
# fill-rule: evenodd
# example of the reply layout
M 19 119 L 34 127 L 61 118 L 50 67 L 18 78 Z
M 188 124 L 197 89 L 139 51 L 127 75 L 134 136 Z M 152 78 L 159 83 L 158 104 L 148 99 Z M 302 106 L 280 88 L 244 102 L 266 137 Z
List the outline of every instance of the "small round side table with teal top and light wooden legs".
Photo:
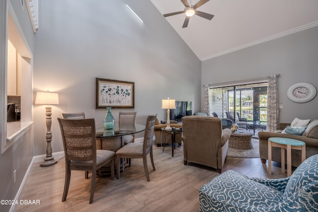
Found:
M 268 174 L 272 174 L 272 146 L 281 148 L 281 168 L 285 173 L 285 149 L 287 151 L 287 177 L 292 175 L 292 149 L 302 151 L 302 162 L 306 159 L 306 143 L 295 139 L 273 137 L 268 139 Z

